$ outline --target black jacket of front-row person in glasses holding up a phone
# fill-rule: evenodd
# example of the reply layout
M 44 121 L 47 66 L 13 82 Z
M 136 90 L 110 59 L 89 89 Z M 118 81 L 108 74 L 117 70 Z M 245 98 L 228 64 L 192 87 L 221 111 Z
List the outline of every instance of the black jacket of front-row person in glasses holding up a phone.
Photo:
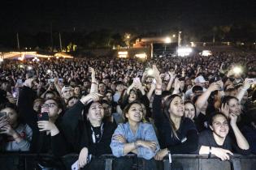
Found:
M 18 109 L 20 118 L 33 130 L 30 151 L 33 153 L 53 153 L 63 155 L 69 151 L 67 140 L 60 129 L 61 117 L 55 121 L 60 133 L 55 136 L 46 135 L 46 132 L 39 132 L 37 126 L 37 112 L 33 110 L 33 101 L 37 98 L 36 93 L 30 87 L 23 87 L 20 91 Z

